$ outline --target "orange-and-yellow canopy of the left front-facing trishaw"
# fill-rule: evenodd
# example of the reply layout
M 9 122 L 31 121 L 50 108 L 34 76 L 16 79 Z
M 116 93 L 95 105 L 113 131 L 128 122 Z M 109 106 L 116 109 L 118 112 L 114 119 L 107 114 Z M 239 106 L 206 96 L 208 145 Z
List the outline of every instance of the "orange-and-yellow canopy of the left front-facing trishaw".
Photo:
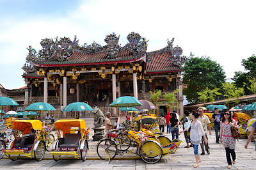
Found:
M 31 132 L 31 127 L 35 130 L 42 130 L 43 125 L 40 120 L 15 120 L 12 121 L 12 128 L 15 130 L 20 130 L 22 135 L 29 134 Z

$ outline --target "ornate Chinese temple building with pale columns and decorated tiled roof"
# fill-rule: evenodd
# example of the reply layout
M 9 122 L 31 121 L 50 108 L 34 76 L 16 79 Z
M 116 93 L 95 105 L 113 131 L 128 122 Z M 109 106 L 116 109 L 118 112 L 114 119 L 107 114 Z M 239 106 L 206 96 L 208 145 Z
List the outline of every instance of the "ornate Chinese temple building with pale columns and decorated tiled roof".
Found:
M 79 45 L 76 36 L 74 41 L 45 38 L 38 52 L 29 46 L 22 67 L 28 84 L 24 105 L 48 102 L 65 107 L 87 101 L 108 107 L 125 95 L 149 100 L 149 91 L 154 89 L 163 93 L 179 89 L 178 112 L 183 114 L 180 77 L 186 57 L 180 47 L 173 47 L 174 38 L 163 49 L 152 52 L 147 52 L 147 40 L 138 33 L 130 33 L 124 47 L 119 38 L 115 33 L 107 35 L 104 46 L 96 42 Z

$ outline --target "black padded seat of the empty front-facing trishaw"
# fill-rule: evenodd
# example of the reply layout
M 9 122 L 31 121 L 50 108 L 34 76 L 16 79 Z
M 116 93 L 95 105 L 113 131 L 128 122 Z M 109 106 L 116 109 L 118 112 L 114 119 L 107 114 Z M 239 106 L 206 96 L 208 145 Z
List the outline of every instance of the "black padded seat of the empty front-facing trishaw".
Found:
M 65 134 L 64 143 L 60 148 L 77 148 L 81 134 Z

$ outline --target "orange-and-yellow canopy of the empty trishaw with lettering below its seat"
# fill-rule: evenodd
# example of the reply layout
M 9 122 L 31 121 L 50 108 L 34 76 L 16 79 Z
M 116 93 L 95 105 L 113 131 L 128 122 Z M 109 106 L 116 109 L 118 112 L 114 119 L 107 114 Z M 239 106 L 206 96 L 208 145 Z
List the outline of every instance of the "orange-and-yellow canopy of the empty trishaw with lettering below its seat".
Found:
M 70 134 L 70 127 L 79 127 L 80 130 L 86 129 L 86 123 L 84 120 L 57 120 L 54 122 L 55 128 L 60 129 L 63 132 L 63 137 L 65 134 Z

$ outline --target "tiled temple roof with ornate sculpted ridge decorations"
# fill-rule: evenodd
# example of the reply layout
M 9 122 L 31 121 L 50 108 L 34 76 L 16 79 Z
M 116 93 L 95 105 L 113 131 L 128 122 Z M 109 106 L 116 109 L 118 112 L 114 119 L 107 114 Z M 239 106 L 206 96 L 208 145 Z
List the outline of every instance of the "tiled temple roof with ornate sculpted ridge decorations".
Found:
M 182 64 L 186 60 L 180 47 L 173 49 L 173 40 L 168 40 L 168 45 L 161 50 L 147 52 L 147 41 L 141 38 L 138 33 L 130 33 L 127 36 L 129 41 L 124 47 L 119 43 L 119 36 L 115 33 L 106 36 L 107 45 L 102 46 L 93 42 L 92 45 L 78 45 L 76 36 L 72 42 L 69 38 L 45 38 L 41 41 L 42 49 L 36 52 L 29 46 L 29 54 L 26 63 L 22 67 L 25 71 L 23 77 L 42 77 L 36 74 L 35 66 L 85 66 L 105 65 L 113 63 L 132 63 L 145 61 L 146 73 L 174 72 L 182 70 Z

